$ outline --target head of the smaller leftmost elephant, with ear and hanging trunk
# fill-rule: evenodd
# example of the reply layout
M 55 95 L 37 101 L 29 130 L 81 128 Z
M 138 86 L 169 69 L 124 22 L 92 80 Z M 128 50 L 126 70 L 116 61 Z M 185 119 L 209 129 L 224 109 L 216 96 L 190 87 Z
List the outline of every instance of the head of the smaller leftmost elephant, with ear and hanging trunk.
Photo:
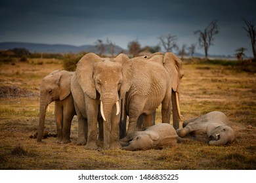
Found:
M 47 106 L 56 100 L 64 100 L 70 95 L 70 80 L 73 73 L 68 71 L 54 71 L 45 76 L 40 86 L 40 117 L 37 142 L 41 142 L 45 126 Z

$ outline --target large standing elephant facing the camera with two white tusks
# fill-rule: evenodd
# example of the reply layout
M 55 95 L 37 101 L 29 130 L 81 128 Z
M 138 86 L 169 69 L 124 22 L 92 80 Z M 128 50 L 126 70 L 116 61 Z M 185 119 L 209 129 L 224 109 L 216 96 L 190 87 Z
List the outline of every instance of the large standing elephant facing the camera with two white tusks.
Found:
M 78 118 L 77 144 L 86 144 L 88 150 L 97 149 L 96 122 L 104 120 L 103 127 L 99 126 L 104 132 L 104 148 L 121 148 L 120 105 L 131 87 L 132 78 L 133 67 L 125 54 L 110 59 L 89 53 L 79 60 L 71 81 Z

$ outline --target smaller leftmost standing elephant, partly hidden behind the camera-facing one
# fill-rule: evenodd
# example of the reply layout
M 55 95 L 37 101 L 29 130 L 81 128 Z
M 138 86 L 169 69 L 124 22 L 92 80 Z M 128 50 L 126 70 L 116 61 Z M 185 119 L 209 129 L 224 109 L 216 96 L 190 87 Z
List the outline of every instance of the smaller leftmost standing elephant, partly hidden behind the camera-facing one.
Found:
M 70 127 L 75 116 L 75 107 L 70 81 L 74 72 L 54 71 L 45 76 L 40 86 L 40 117 L 37 142 L 41 142 L 45 126 L 47 106 L 54 101 L 54 116 L 57 126 L 57 142 L 70 143 Z

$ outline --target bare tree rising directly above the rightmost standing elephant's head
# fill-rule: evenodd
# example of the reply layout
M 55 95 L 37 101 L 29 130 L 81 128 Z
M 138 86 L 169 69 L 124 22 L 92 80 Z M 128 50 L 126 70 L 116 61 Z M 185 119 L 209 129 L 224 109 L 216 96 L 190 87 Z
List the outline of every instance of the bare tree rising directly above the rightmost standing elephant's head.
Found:
M 160 39 L 160 44 L 163 45 L 163 48 L 165 48 L 166 52 L 172 52 L 173 49 L 177 49 L 177 36 L 171 35 L 170 33 L 168 35 L 161 35 L 158 37 Z

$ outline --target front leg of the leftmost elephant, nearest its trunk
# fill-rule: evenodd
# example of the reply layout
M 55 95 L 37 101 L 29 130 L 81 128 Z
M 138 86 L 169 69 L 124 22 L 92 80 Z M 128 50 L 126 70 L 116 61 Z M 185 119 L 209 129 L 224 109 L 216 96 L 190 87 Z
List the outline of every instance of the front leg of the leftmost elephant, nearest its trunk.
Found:
M 63 109 L 60 101 L 54 102 L 54 116 L 57 126 L 57 143 L 62 141 Z

